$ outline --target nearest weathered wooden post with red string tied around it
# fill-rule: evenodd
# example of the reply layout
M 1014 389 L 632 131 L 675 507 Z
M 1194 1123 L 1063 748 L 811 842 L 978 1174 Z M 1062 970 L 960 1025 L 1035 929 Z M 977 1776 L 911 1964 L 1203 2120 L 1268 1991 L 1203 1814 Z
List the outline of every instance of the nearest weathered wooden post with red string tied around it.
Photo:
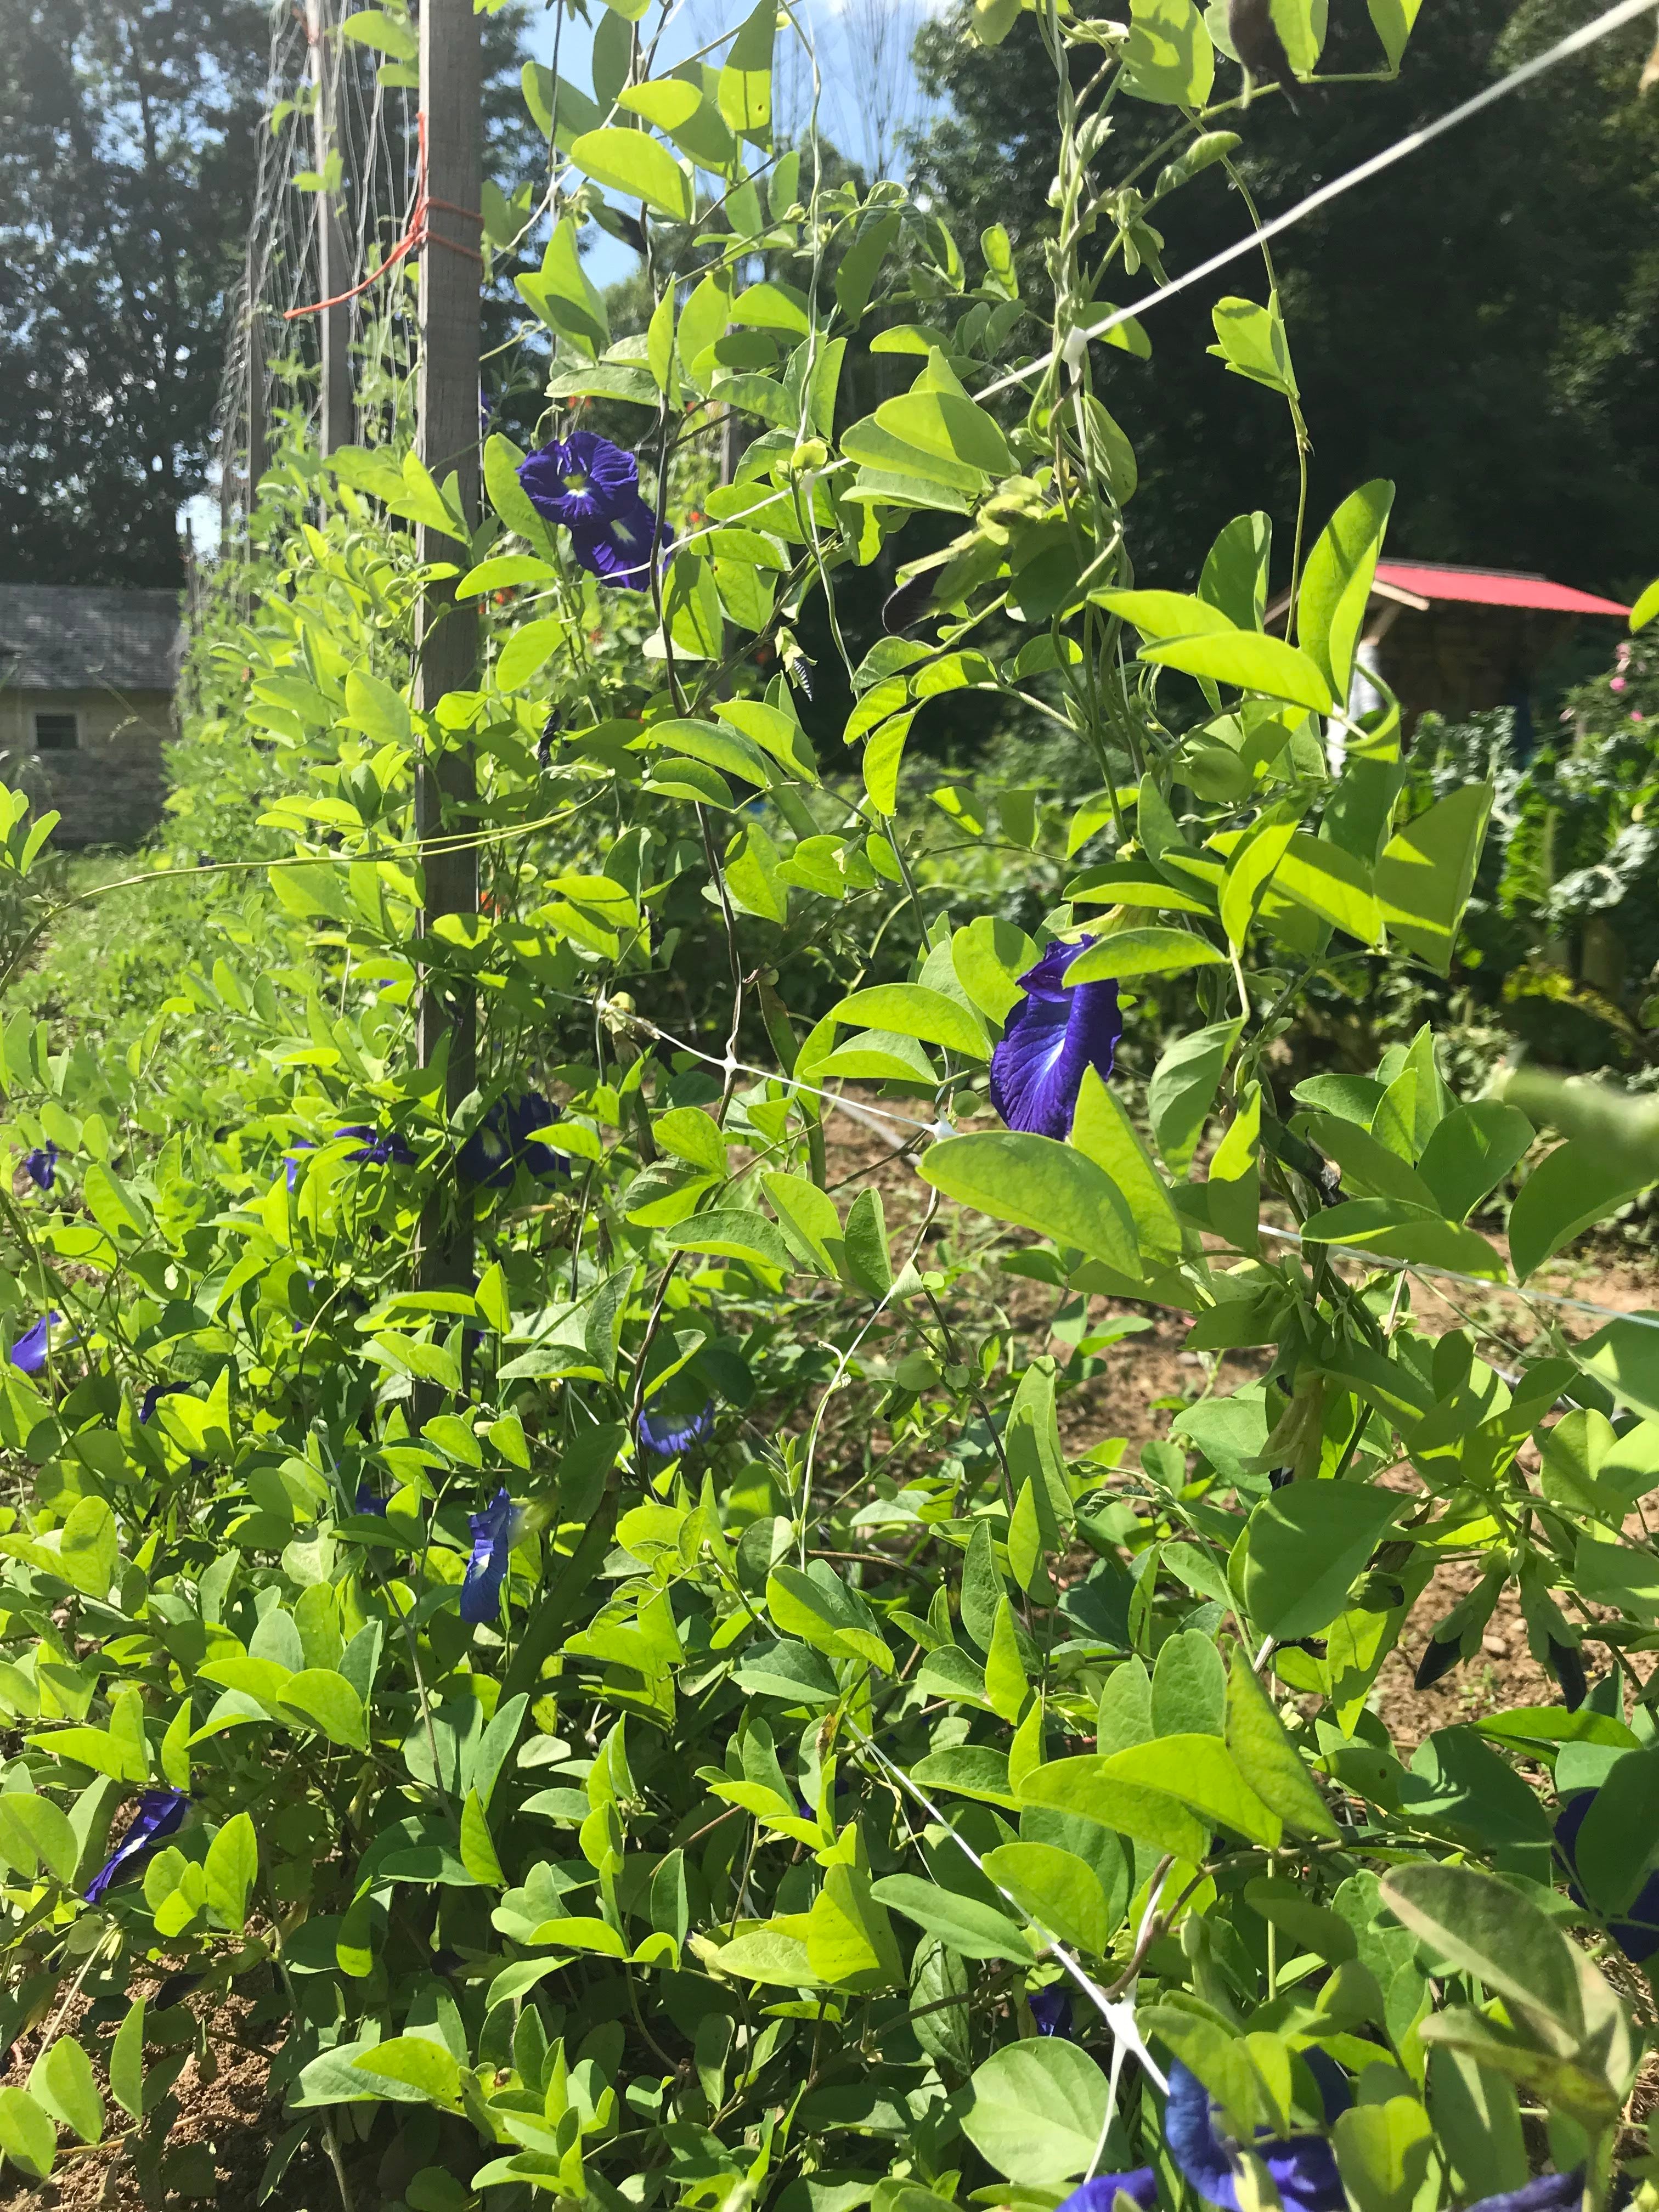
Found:
M 427 119 L 427 195 L 431 215 L 420 246 L 420 458 L 442 482 L 460 476 L 467 524 L 478 524 L 478 285 L 482 46 L 473 0 L 425 0 L 420 9 L 420 113 Z M 469 549 L 420 526 L 422 562 L 469 562 Z M 420 664 L 416 706 L 422 712 L 445 692 L 467 690 L 478 668 L 478 613 L 456 606 L 449 584 L 434 586 L 420 604 Z M 416 834 L 422 845 L 473 827 L 478 796 L 473 757 L 465 739 L 442 752 L 427 750 L 416 770 Z M 422 852 L 422 929 L 442 914 L 478 911 L 478 852 Z M 447 1048 L 447 1102 L 453 1110 L 478 1082 L 478 1009 L 469 989 L 445 993 L 422 975 L 416 1009 L 420 1066 Z M 420 1223 L 420 1281 L 471 1285 L 471 1199 L 458 1192 L 449 1208 L 427 1203 Z

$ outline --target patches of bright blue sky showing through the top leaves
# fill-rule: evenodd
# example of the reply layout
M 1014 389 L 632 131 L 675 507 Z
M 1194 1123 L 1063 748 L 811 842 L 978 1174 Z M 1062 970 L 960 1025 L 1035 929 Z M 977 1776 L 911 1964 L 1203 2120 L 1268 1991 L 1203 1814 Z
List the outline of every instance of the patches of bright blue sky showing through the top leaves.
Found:
M 706 46 L 719 31 L 737 29 L 745 0 L 668 0 L 670 20 L 657 49 L 657 69 L 672 69 L 688 53 Z M 801 0 L 801 20 L 810 27 L 818 51 L 823 82 L 821 128 L 865 168 L 880 164 L 896 175 L 902 161 L 894 146 L 902 131 L 927 119 L 927 102 L 909 62 L 909 49 L 929 7 L 936 0 Z M 606 13 L 604 0 L 588 0 L 593 24 L 566 15 L 560 40 L 560 71 L 586 91 L 593 84 L 593 29 Z M 659 20 L 650 9 L 641 29 Z M 555 11 L 531 18 L 531 53 L 553 60 Z M 812 100 L 812 75 L 801 42 L 787 31 L 776 42 L 774 113 L 785 131 L 805 122 Z M 597 234 L 588 252 L 588 274 L 595 283 L 617 283 L 637 265 L 626 246 Z

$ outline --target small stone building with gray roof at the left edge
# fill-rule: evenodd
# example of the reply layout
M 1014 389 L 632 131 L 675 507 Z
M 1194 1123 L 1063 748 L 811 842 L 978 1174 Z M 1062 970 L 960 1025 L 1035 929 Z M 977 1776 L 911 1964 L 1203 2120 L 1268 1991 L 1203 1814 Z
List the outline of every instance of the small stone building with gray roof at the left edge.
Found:
M 137 845 L 161 818 L 179 595 L 0 584 L 0 783 L 62 816 L 58 845 Z

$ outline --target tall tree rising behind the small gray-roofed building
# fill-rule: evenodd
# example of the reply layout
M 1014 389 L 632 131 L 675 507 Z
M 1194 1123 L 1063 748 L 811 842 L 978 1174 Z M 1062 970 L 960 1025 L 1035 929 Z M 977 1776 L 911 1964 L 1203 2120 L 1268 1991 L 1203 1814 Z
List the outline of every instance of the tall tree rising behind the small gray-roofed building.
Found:
M 0 0 L 0 575 L 179 577 L 254 175 L 259 0 Z

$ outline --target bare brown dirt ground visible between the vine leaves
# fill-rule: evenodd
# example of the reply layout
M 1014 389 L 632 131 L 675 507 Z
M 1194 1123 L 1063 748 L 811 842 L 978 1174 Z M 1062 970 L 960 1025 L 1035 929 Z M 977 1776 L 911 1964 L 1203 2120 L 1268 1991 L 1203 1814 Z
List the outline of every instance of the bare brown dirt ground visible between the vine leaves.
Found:
M 858 1104 L 858 1099 L 854 1099 Z M 865 1099 L 867 1119 L 830 1117 L 830 1186 L 845 1208 L 847 1194 L 874 1183 L 883 1194 L 887 1232 L 898 1263 L 909 1254 L 922 1225 L 929 1186 L 911 1161 L 896 1150 L 914 1130 L 885 1121 L 874 1110 L 905 1110 L 905 1102 Z M 933 1237 L 978 1239 L 987 1225 L 975 1217 L 940 1208 Z M 1599 1307 L 1632 1312 L 1659 1305 L 1659 1267 L 1641 1267 L 1628 1259 L 1595 1254 L 1562 1263 L 1540 1279 L 1540 1287 L 1559 1296 L 1582 1298 Z M 1048 1321 L 1057 1294 L 1042 1283 L 1013 1274 L 993 1276 L 998 1325 L 1020 1336 L 1029 1356 L 1048 1347 Z M 1522 1349 L 1535 1334 L 1535 1321 L 1522 1298 L 1506 1292 L 1413 1287 L 1418 1327 L 1429 1332 L 1475 1325 L 1482 1332 L 1482 1354 L 1495 1365 Z M 1093 1301 L 1091 1327 L 1115 1314 L 1150 1321 L 1150 1327 L 1126 1336 L 1102 1354 L 1099 1371 L 1062 1400 L 1062 1440 L 1068 1455 L 1079 1455 L 1104 1438 L 1126 1438 L 1133 1449 L 1152 1436 L 1166 1436 L 1172 1413 L 1203 1389 L 1203 1363 L 1183 1352 L 1190 1327 L 1183 1314 L 1126 1301 Z M 1562 1312 L 1568 1336 L 1588 1336 L 1599 1323 L 1593 1314 Z M 1068 1347 L 1055 1343 L 1057 1354 Z M 1250 1374 L 1261 1374 L 1265 1354 L 1228 1354 L 1221 1387 L 1237 1387 Z M 1409 1756 L 1422 1736 L 1453 1721 L 1526 1703 L 1555 1703 L 1559 1690 L 1551 1674 L 1526 1650 L 1520 1608 L 1506 1597 L 1482 1639 L 1480 1659 L 1471 1661 L 1429 1690 L 1416 1690 L 1411 1674 L 1433 1624 L 1471 1588 L 1475 1571 L 1467 1564 L 1440 1568 L 1433 1577 L 1396 1655 L 1387 1661 L 1374 1701 L 1402 1754 Z M 1646 1674 L 1650 1661 L 1641 1661 Z M 1593 1666 L 1595 1672 L 1595 1666 Z M 173 2132 L 175 2166 L 161 2197 L 139 2192 L 131 2157 L 119 2139 L 97 2150 L 60 2157 L 44 2188 L 27 2188 L 7 2168 L 0 2177 L 0 2212 L 168 2212 L 192 2201 L 217 2199 L 226 2212 L 252 2212 L 257 2190 L 281 2119 L 270 2099 L 270 2031 L 248 2026 L 250 2006 L 230 2000 L 210 2020 L 208 2042 L 217 2055 L 206 2075 L 188 2059 L 177 2084 L 179 2121 Z M 4 2081 L 22 2081 L 33 2062 L 35 2037 L 24 2037 L 11 2051 Z M 122 2119 L 111 2110 L 111 2121 Z M 184 2157 L 179 2157 L 184 2152 Z M 369 2190 L 369 2194 L 374 2194 Z M 338 2212 L 338 2188 L 321 2146 L 307 2143 L 276 2185 L 272 2203 L 283 2212 Z

